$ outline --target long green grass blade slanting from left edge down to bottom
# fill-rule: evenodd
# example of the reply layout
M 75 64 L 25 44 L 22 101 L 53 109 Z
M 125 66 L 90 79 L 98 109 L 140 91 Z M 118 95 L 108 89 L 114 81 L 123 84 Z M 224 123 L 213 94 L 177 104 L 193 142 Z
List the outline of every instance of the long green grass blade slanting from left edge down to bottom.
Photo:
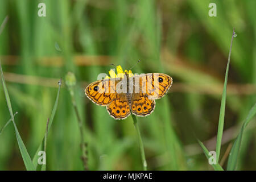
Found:
M 24 164 L 26 166 L 26 169 L 28 171 L 34 171 L 35 167 L 32 163 L 30 155 L 27 152 L 27 148 L 24 145 L 24 143 L 22 141 L 22 138 L 19 135 L 19 131 L 18 131 L 18 129 L 16 127 L 16 124 L 15 124 L 15 121 L 14 121 L 13 109 L 11 107 L 11 101 L 10 101 L 9 93 L 8 93 L 8 90 L 7 90 L 7 87 L 6 87 L 6 84 L 5 84 L 5 78 L 3 77 L 1 62 L 0 62 L 0 69 L 1 69 L 1 78 L 2 78 L 2 84 L 3 84 L 3 91 L 5 92 L 5 98 L 6 98 L 7 106 L 8 106 L 9 111 L 10 111 L 11 120 L 13 121 L 15 134 L 16 134 L 16 138 L 17 138 L 17 141 L 18 141 L 20 153 L 22 154 L 23 162 L 24 162 Z

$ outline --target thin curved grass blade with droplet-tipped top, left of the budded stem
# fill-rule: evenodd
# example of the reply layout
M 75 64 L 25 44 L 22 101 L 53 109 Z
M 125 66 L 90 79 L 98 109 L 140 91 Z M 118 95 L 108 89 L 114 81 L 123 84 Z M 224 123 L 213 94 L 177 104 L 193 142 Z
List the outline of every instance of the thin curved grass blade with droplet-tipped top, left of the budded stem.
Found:
M 49 118 L 49 122 L 47 122 L 46 134 L 44 135 L 44 138 L 43 138 L 42 142 L 40 143 L 40 145 L 38 147 L 38 150 L 36 150 L 34 158 L 32 160 L 36 169 L 38 168 L 38 158 L 40 157 L 40 156 L 38 156 L 38 152 L 39 151 L 45 151 L 45 149 L 46 149 L 46 140 L 47 140 L 46 138 L 47 138 L 48 130 L 51 128 L 52 121 L 53 121 L 53 118 L 54 118 L 56 110 L 57 110 L 57 105 L 58 105 L 59 96 L 60 96 L 61 79 L 58 82 L 58 84 L 59 84 L 59 89 L 58 89 L 58 92 L 57 92 L 57 97 L 56 97 L 56 100 L 55 100 L 55 104 L 54 104 L 53 109 L 52 109 L 51 117 Z M 42 165 L 41 169 L 45 170 L 46 165 Z

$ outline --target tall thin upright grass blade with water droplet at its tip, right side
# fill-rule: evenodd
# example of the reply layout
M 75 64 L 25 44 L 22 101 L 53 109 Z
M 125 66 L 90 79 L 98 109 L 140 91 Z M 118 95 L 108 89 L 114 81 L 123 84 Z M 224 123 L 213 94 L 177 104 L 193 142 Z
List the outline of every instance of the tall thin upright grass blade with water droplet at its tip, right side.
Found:
M 220 117 L 218 119 L 218 134 L 217 134 L 217 143 L 216 143 L 217 162 L 218 162 L 218 159 L 220 158 L 221 141 L 222 141 L 222 134 L 223 134 L 223 128 L 224 128 L 224 117 L 225 117 L 225 106 L 226 106 L 226 85 L 228 84 L 229 64 L 230 64 L 230 56 L 231 56 L 233 39 L 234 39 L 234 29 L 233 29 L 232 39 L 230 43 L 228 64 L 226 65 L 225 81 L 224 81 L 224 87 L 223 87 L 222 98 L 221 98 Z

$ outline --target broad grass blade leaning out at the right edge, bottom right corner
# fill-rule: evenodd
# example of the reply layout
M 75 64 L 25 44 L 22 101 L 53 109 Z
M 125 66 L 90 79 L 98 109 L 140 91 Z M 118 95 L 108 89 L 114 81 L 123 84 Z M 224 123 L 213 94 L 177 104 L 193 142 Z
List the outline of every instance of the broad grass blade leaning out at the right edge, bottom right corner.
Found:
M 236 140 L 235 140 L 235 142 L 232 146 L 232 149 L 229 153 L 228 167 L 227 167 L 228 171 L 233 171 L 233 170 L 236 169 L 237 158 L 238 158 L 238 154 L 239 154 L 239 151 L 240 151 L 243 131 L 245 130 L 245 127 L 250 122 L 250 120 L 254 117 L 255 114 L 256 114 L 256 104 L 254 104 L 254 106 L 251 108 L 249 114 L 247 115 L 247 117 L 245 119 L 245 122 L 243 123 L 243 126 L 241 128 L 241 131 L 238 134 L 238 136 L 237 136 L 237 138 L 236 138 Z

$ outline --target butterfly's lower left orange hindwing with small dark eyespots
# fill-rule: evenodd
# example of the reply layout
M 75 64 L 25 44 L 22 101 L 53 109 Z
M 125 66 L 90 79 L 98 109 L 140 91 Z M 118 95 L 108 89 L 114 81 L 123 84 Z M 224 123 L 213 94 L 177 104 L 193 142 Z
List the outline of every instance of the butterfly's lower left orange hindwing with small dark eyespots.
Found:
M 130 115 L 126 94 L 115 94 L 113 101 L 107 106 L 108 113 L 114 119 L 125 119 Z

